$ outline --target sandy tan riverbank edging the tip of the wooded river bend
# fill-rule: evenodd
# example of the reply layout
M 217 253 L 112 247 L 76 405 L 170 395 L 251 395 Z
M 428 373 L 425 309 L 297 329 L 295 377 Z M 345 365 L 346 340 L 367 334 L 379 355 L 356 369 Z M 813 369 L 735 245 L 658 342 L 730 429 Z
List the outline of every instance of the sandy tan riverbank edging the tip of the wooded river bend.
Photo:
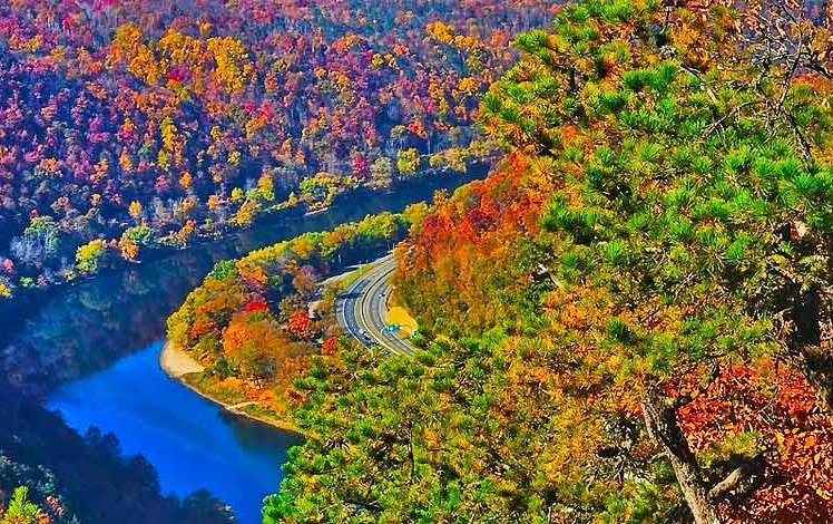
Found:
M 204 388 L 199 388 L 197 387 L 197 385 L 189 382 L 187 380 L 187 377 L 193 377 L 202 373 L 203 371 L 205 371 L 205 366 L 197 362 L 190 355 L 185 352 L 175 343 L 165 341 L 165 345 L 159 352 L 159 367 L 168 377 L 178 380 L 183 386 L 190 389 L 200 397 L 222 406 L 223 409 L 231 413 L 232 415 L 244 417 L 277 429 L 301 434 L 298 428 L 288 420 L 263 417 L 261 415 L 252 414 L 243 409 L 252 406 L 257 406 L 257 402 L 255 401 L 228 402 L 218 398 L 216 395 L 212 395 Z

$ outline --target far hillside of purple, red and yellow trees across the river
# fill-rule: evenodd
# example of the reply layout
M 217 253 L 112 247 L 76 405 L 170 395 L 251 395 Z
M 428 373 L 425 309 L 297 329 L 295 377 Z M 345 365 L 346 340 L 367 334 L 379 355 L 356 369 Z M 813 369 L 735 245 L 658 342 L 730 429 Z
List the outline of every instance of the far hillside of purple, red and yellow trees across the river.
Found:
M 550 2 L 0 6 L 0 300 L 425 169 Z

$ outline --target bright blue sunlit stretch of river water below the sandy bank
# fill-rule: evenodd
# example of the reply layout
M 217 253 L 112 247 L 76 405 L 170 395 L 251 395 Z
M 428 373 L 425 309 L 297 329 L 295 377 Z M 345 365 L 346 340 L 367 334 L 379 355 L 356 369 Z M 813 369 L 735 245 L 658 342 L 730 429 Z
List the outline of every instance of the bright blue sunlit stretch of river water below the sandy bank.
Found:
M 206 488 L 232 505 L 243 524 L 259 521 L 263 497 L 275 493 L 286 449 L 296 435 L 225 413 L 159 368 L 161 343 L 112 367 L 68 382 L 49 396 L 70 427 L 112 431 L 122 450 L 156 466 L 163 493 Z

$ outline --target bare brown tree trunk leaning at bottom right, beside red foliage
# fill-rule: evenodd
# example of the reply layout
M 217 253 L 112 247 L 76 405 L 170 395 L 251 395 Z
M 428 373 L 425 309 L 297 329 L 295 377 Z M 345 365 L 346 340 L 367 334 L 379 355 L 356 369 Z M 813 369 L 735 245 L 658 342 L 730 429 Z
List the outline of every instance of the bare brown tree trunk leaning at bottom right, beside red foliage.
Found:
M 719 524 L 717 507 L 709 502 L 708 487 L 703 479 L 697 458 L 677 424 L 676 408 L 660 395 L 651 392 L 643 402 L 643 415 L 648 434 L 663 445 L 670 459 L 694 522 Z

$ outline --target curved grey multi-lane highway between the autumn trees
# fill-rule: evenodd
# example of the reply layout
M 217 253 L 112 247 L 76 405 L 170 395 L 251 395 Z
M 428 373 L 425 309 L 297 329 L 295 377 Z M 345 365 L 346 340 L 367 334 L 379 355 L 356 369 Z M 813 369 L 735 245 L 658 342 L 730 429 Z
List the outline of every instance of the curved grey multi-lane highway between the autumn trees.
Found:
M 396 261 L 389 254 L 372 263 L 373 269 L 339 295 L 335 318 L 345 333 L 365 346 L 376 343 L 392 353 L 413 355 L 413 346 L 399 333 L 385 330 L 388 300 L 393 292 L 389 280 L 396 271 Z

